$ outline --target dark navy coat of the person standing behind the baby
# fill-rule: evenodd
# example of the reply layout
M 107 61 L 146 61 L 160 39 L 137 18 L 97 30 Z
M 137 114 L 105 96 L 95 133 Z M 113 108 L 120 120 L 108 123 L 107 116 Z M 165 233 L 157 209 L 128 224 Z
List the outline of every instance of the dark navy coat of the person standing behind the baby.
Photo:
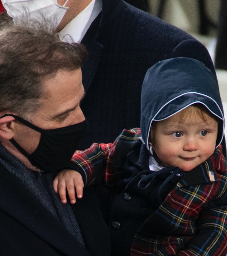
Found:
M 86 91 L 81 107 L 89 131 L 79 149 L 113 142 L 122 129 L 140 126 L 140 93 L 148 68 L 160 60 L 196 58 L 213 72 L 205 46 L 189 34 L 122 0 L 103 0 L 102 13 L 82 43 Z

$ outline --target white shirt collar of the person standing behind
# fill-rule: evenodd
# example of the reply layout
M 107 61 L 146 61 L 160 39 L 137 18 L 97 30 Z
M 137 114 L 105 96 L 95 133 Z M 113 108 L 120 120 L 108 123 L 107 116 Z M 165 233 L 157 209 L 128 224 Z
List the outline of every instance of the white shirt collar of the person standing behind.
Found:
M 91 23 L 102 11 L 102 0 L 92 0 L 89 5 L 72 19 L 58 33 L 61 41 L 73 43 L 81 42 Z

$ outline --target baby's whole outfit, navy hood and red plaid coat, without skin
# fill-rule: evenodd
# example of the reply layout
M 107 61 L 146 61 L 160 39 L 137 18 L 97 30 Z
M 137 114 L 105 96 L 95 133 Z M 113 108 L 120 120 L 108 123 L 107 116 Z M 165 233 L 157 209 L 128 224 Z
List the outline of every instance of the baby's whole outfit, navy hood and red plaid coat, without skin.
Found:
M 147 71 L 141 102 L 141 131 L 123 130 L 114 143 L 94 143 L 72 159 L 85 186 L 103 179 L 114 191 L 108 216 L 111 255 L 226 255 L 224 115 L 215 76 L 195 59 L 163 60 Z M 220 120 L 214 154 L 189 172 L 150 171 L 152 121 L 198 102 Z

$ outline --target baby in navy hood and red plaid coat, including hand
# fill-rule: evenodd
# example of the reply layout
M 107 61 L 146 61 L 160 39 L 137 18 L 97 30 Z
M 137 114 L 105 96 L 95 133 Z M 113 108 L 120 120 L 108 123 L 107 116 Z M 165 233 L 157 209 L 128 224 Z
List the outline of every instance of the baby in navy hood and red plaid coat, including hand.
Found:
M 226 255 L 227 165 L 218 84 L 198 60 L 163 60 L 145 76 L 141 129 L 73 155 L 55 192 L 75 203 L 104 184 L 112 255 Z M 81 199 L 83 200 L 83 199 Z

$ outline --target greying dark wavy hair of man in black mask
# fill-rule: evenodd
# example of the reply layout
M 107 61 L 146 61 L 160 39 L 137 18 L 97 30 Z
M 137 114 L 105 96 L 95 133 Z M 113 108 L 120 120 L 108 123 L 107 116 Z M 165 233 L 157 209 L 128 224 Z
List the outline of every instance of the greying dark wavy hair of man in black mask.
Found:
M 82 66 L 85 47 L 65 43 L 40 22 L 30 26 L 8 24 L 0 31 L 0 112 L 25 117 L 40 107 L 42 84 L 58 70 Z

